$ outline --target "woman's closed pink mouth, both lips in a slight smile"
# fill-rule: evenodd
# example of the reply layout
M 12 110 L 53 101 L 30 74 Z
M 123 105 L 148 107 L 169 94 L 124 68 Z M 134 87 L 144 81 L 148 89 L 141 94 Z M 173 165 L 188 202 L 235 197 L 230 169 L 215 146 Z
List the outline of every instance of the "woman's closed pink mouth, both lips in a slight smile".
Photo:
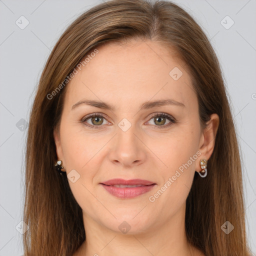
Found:
M 110 179 L 100 183 L 107 192 L 118 198 L 133 198 L 150 191 L 156 183 L 144 179 Z

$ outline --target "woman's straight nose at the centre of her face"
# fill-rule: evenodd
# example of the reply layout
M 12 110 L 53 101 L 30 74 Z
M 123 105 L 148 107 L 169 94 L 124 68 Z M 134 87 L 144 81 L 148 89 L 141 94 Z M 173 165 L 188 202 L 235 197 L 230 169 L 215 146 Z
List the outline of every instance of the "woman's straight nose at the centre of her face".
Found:
M 118 127 L 116 132 L 108 153 L 109 160 L 123 168 L 142 164 L 146 159 L 146 146 L 135 125 L 126 131 Z

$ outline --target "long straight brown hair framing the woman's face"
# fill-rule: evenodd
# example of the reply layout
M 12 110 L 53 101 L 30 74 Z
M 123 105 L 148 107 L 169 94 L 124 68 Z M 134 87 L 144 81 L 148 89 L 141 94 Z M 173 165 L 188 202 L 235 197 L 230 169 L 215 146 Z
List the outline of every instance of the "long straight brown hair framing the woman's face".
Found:
M 239 147 L 219 62 L 209 39 L 178 5 L 156 0 L 110 0 L 76 18 L 63 32 L 41 73 L 30 111 L 25 155 L 24 255 L 69 256 L 85 240 L 82 210 L 65 172 L 55 170 L 53 130 L 60 123 L 66 86 L 74 67 L 99 45 L 151 40 L 174 49 L 186 64 L 197 95 L 200 122 L 219 116 L 206 178 L 194 175 L 186 198 L 185 231 L 205 255 L 249 255 Z M 59 87 L 60 88 L 60 87 Z M 221 225 L 234 229 L 227 235 Z

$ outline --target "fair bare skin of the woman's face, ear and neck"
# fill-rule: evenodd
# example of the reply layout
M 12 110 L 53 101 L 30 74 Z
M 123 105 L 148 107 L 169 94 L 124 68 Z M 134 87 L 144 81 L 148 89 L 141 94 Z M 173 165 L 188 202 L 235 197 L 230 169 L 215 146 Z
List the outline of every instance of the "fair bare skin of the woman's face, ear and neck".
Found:
M 74 183 L 68 182 L 82 208 L 86 240 L 73 255 L 203 255 L 185 238 L 185 200 L 195 171 L 201 170 L 200 159 L 212 154 L 218 115 L 212 114 L 207 128 L 200 128 L 189 72 L 174 51 L 152 41 L 111 42 L 97 49 L 67 85 L 60 126 L 54 130 L 64 171 L 75 169 L 80 175 Z M 173 67 L 183 73 L 177 80 L 169 75 Z M 145 101 L 167 98 L 184 106 L 139 108 Z M 115 110 L 86 104 L 71 110 L 82 99 L 104 101 Z M 171 115 L 176 122 L 167 126 L 171 122 L 167 118 L 150 117 L 157 112 Z M 104 115 L 99 125 L 93 118 L 85 121 L 98 128 L 81 122 L 90 113 Z M 131 124 L 126 131 L 118 126 L 123 118 Z M 197 151 L 201 155 L 149 201 Z M 123 199 L 99 184 L 111 178 L 147 179 L 156 185 Z M 126 234 L 118 228 L 123 221 L 130 226 Z

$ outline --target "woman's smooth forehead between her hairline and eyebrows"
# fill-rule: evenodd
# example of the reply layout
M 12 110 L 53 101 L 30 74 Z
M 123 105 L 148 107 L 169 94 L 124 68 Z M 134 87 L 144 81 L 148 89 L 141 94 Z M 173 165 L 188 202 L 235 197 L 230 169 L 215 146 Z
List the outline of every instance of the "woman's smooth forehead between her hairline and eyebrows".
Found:
M 174 50 L 152 41 L 110 42 L 96 49 L 69 81 L 68 105 L 83 98 L 140 105 L 171 97 L 187 106 L 195 103 L 190 75 Z

